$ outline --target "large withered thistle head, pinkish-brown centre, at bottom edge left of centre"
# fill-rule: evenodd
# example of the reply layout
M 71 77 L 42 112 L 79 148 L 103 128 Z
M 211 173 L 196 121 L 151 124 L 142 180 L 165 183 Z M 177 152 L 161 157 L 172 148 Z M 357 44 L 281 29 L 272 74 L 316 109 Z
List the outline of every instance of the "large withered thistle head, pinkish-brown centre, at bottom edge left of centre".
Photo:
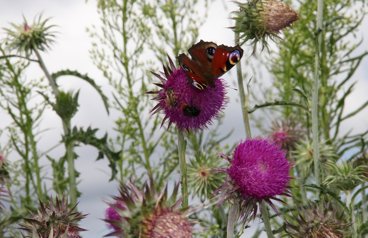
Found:
M 180 208 L 183 197 L 176 200 L 177 184 L 168 198 L 167 185 L 163 192 L 156 192 L 151 178 L 151 185 L 145 183 L 141 189 L 131 182 L 120 184 L 119 196 L 113 196 L 105 220 L 113 232 L 106 236 L 121 238 L 190 238 L 193 237 L 193 221 L 187 217 L 195 209 Z M 112 210 L 111 210 L 112 209 Z

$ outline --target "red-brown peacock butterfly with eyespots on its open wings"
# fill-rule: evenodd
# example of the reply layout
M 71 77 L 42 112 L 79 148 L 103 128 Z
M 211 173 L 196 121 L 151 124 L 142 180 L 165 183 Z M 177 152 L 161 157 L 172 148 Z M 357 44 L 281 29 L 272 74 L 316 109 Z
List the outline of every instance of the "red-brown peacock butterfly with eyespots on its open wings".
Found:
M 197 89 L 205 89 L 208 85 L 215 87 L 214 79 L 233 68 L 240 61 L 244 50 L 239 45 L 234 47 L 223 44 L 217 46 L 213 42 L 201 40 L 192 45 L 188 53 L 192 59 L 186 54 L 180 54 L 176 57 L 179 65 L 187 74 L 189 84 Z

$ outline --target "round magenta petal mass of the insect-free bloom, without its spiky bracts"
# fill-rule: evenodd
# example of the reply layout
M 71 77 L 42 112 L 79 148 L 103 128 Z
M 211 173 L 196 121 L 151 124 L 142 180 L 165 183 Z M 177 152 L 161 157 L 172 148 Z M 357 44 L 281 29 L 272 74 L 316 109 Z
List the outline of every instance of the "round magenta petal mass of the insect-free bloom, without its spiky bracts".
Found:
M 282 194 L 288 186 L 291 162 L 285 156 L 281 145 L 269 138 L 240 141 L 227 173 L 245 199 L 262 201 Z

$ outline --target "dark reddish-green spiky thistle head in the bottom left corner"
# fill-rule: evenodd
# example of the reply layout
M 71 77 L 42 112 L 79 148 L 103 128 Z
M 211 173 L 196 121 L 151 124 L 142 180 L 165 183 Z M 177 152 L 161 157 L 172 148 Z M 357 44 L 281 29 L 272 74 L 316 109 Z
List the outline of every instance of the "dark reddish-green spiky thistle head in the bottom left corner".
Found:
M 76 222 L 87 215 L 73 212 L 77 205 L 68 211 L 68 198 L 64 195 L 61 202 L 56 197 L 56 205 L 52 196 L 48 204 L 39 202 L 40 209 L 37 210 L 37 214 L 29 212 L 31 218 L 22 217 L 26 223 L 20 224 L 19 229 L 37 238 L 81 238 L 79 232 L 85 229 L 79 227 Z

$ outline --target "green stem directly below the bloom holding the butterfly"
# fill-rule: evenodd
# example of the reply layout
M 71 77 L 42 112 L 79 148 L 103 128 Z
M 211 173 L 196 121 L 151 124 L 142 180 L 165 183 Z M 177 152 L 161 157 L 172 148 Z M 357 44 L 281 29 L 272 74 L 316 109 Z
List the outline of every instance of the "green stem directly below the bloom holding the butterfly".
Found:
M 179 166 L 181 175 L 181 195 L 184 196 L 181 202 L 181 207 L 186 208 L 188 206 L 188 181 L 187 181 L 187 164 L 185 163 L 185 148 L 187 147 L 187 141 L 184 139 L 184 133 L 180 129 L 177 129 L 178 134 L 178 155 Z

